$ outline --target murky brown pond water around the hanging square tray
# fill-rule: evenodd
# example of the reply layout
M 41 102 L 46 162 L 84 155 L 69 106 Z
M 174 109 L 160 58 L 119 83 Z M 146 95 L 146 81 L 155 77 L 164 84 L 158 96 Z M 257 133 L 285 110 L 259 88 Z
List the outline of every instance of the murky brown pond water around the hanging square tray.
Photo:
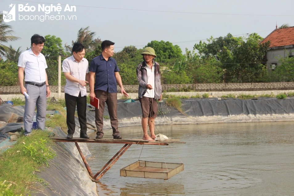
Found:
M 186 144 L 132 145 L 97 183 L 103 195 L 293 195 L 294 122 L 160 125 L 156 132 Z M 127 139 L 142 137 L 141 126 L 119 128 Z M 112 138 L 112 130 L 104 130 Z M 89 134 L 95 137 L 96 133 Z M 123 144 L 88 143 L 93 174 Z M 184 163 L 169 180 L 120 177 L 138 160 Z

